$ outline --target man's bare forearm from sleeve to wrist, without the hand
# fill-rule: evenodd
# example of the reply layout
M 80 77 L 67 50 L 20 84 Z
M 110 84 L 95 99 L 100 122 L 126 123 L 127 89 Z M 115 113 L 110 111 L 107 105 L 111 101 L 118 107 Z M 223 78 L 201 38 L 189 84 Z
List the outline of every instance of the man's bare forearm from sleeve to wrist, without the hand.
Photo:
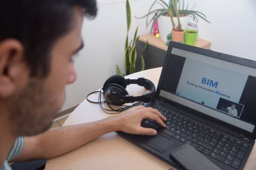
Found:
M 97 122 L 52 128 L 36 137 L 25 138 L 24 152 L 15 161 L 49 159 L 83 146 L 103 134 L 117 131 L 115 118 Z M 31 145 L 36 143 L 36 150 Z

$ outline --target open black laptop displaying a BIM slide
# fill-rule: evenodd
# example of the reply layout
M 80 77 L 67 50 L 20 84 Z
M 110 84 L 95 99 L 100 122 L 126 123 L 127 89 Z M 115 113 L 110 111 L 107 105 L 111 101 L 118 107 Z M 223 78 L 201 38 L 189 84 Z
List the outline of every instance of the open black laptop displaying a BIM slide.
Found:
M 221 169 L 243 169 L 256 137 L 256 62 L 171 42 L 155 98 L 167 121 L 141 125 L 154 137 L 118 132 L 121 137 L 182 169 L 170 151 L 189 143 Z

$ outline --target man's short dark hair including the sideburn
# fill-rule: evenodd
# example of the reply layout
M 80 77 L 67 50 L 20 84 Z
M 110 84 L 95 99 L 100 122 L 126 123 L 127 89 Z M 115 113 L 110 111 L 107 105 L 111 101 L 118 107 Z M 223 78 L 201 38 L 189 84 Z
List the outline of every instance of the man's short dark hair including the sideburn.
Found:
M 95 0 L 2 0 L 0 2 L 0 43 L 17 39 L 24 47 L 24 59 L 31 77 L 46 77 L 50 52 L 58 38 L 72 28 L 74 6 L 94 18 Z

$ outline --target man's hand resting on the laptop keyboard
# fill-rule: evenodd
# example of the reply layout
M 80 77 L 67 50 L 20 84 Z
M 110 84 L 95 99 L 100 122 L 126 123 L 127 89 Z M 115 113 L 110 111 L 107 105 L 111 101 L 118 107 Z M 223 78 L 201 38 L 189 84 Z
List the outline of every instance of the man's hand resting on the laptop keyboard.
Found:
M 129 109 L 124 114 L 114 117 L 117 122 L 118 131 L 123 131 L 132 134 L 146 134 L 146 135 L 156 135 L 156 130 L 151 128 L 143 128 L 140 124 L 144 118 L 149 118 L 155 120 L 164 128 L 166 125 L 163 121 L 166 118 L 151 107 L 137 106 Z

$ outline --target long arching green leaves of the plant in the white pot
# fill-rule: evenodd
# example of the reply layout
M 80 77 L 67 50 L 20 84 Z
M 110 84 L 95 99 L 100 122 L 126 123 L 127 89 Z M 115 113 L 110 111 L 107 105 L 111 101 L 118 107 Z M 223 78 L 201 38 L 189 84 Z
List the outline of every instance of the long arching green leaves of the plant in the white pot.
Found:
M 153 7 L 156 5 L 159 5 L 160 7 L 153 10 Z M 174 25 L 174 21 L 172 21 L 173 17 L 179 18 L 179 16 L 187 16 L 187 15 L 193 16 L 193 18 L 196 22 L 198 22 L 198 18 L 201 18 L 204 21 L 210 23 L 210 21 L 208 21 L 206 19 L 206 16 L 202 12 L 193 10 L 194 6 L 189 8 L 189 4 L 185 5 L 184 0 L 169 0 L 168 3 L 166 3 L 163 0 L 155 0 L 153 2 L 153 4 L 150 6 L 148 13 L 146 15 L 143 15 L 143 16 L 137 17 L 137 18 L 142 19 L 142 18 L 146 17 L 147 18 L 147 21 L 146 21 L 147 27 L 151 22 L 153 22 L 153 24 L 151 26 L 151 31 L 153 30 L 153 26 L 154 26 L 154 23 L 156 22 L 156 20 L 162 15 L 170 16 L 172 25 Z M 149 19 L 150 15 L 153 15 L 153 17 L 151 19 Z M 173 27 L 173 28 L 175 29 L 175 27 Z M 178 30 L 181 30 L 180 23 L 178 23 Z

